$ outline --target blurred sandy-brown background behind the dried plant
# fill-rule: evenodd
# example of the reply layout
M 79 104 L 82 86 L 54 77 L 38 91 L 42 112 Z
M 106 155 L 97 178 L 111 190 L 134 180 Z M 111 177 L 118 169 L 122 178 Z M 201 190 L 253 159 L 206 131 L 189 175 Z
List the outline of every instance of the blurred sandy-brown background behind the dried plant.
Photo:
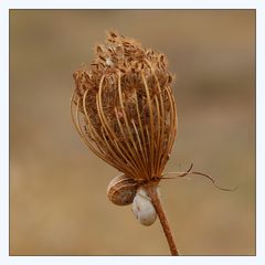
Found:
M 159 222 L 144 227 L 106 187 L 70 116 L 72 73 L 116 29 L 167 54 L 179 131 L 163 181 L 182 255 L 255 255 L 255 12 L 236 10 L 10 12 L 10 254 L 168 255 Z

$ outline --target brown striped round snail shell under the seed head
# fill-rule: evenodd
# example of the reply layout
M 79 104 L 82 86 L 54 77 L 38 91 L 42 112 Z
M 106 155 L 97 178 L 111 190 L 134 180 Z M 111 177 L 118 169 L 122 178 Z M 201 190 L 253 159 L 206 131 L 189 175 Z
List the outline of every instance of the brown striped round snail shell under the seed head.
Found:
M 137 183 L 125 174 L 114 178 L 107 188 L 107 197 L 116 205 L 132 203 L 137 191 Z

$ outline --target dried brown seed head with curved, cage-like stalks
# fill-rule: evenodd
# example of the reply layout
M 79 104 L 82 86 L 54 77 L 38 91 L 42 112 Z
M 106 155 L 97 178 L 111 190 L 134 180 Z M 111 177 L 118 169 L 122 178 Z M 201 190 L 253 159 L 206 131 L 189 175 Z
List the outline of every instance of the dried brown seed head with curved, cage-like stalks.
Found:
M 72 117 L 86 145 L 139 183 L 159 181 L 177 134 L 165 55 L 109 32 L 74 80 Z

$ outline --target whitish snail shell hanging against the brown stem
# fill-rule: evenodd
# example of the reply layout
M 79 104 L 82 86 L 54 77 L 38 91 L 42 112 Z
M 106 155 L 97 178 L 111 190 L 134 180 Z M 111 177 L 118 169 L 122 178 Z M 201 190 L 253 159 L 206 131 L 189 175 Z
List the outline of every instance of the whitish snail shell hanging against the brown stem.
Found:
M 132 202 L 132 212 L 138 222 L 147 226 L 153 224 L 157 219 L 157 212 L 151 203 L 151 199 L 142 187 L 137 190 Z

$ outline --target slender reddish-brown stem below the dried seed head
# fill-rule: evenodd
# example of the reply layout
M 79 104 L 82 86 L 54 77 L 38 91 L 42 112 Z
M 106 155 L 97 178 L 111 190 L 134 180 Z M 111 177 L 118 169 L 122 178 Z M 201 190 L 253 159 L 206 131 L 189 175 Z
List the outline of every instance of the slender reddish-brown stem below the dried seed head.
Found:
M 168 241 L 168 244 L 169 244 L 170 252 L 173 256 L 179 256 L 179 253 L 178 253 L 178 250 L 177 250 L 177 246 L 176 246 L 176 243 L 174 243 L 173 234 L 170 230 L 167 215 L 163 211 L 161 201 L 160 201 L 160 199 L 158 197 L 158 193 L 157 193 L 157 184 L 148 186 L 146 189 L 147 189 L 148 195 L 152 200 L 152 204 L 153 204 L 153 206 L 157 211 L 157 214 L 159 216 L 160 223 L 161 223 L 162 229 L 163 229 L 163 233 L 165 233 L 165 235 L 167 237 L 167 241 Z

